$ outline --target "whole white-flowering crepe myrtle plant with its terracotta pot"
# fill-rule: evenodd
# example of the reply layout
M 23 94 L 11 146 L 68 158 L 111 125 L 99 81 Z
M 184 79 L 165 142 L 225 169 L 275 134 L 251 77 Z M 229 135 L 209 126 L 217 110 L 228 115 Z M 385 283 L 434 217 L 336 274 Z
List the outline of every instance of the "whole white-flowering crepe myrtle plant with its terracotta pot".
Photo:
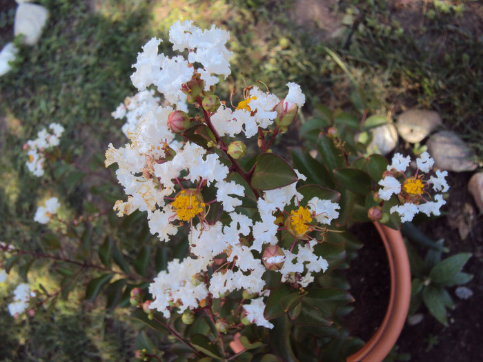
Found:
M 324 107 L 302 126 L 308 148 L 279 156 L 275 145 L 293 128 L 304 92 L 287 83 L 288 94 L 279 99 L 260 81 L 220 100 L 215 88 L 230 74 L 233 55 L 228 39 L 214 26 L 178 21 L 170 42 L 182 55 L 159 54 L 160 39 L 146 43 L 131 76 L 139 92 L 113 113 L 126 119 L 129 142 L 106 151 L 105 165 L 115 168 L 124 191 L 114 203 L 123 219 L 88 204 L 87 221 L 59 221 L 62 237 L 44 241 L 49 252 L 3 245 L 12 254 L 6 269 L 21 255 L 50 258 L 64 277 L 62 295 L 81 272 L 93 270 L 88 301 L 105 290 L 109 309 L 130 303 L 132 319 L 159 332 L 157 339 L 139 332 L 141 360 L 379 361 L 408 310 L 408 261 L 397 229 L 417 212 L 439 213 L 444 201 L 433 194 L 446 191 L 445 174 L 422 173 L 431 168 L 428 154 L 417 159 L 413 174 L 409 157 L 395 154 L 390 164 L 367 154 L 354 136 L 386 123 L 384 117 L 364 114 L 361 122 Z M 26 144 L 37 176 L 61 158 L 63 128 L 50 130 Z M 62 160 L 59 177 L 86 173 L 73 171 L 69 157 Z M 95 190 L 112 199 L 109 187 Z M 50 223 L 58 208 L 49 199 L 35 220 Z M 348 230 L 362 222 L 374 222 L 380 232 L 392 280 L 386 318 L 364 348 L 340 321 L 353 299 L 336 272 L 348 268 L 362 245 Z M 69 238 L 79 248 L 75 258 L 61 247 Z M 42 296 L 53 299 L 45 288 L 35 298 Z

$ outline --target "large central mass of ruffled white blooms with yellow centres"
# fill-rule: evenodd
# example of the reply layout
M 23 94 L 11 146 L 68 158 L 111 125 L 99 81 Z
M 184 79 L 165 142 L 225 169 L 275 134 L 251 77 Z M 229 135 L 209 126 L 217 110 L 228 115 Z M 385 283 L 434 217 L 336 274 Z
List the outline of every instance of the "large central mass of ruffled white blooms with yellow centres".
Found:
M 271 328 L 263 317 L 263 296 L 269 292 L 262 275 L 267 269 L 277 270 L 283 281 L 304 287 L 313 281 L 313 273 L 326 270 L 327 261 L 315 253 L 315 234 L 338 217 L 339 205 L 317 197 L 306 200 L 297 192 L 297 179 L 305 179 L 298 172 L 295 181 L 282 188 L 262 194 L 251 188 L 250 172 L 235 162 L 243 156 L 244 145 L 237 144 L 236 150 L 242 152 L 235 156 L 235 147 L 230 150 L 221 137 L 250 138 L 271 125 L 284 127 L 295 119 L 305 97 L 297 84 L 288 83 L 282 101 L 253 86 L 246 88 L 235 109 L 220 103 L 212 86 L 219 75 L 230 74 L 228 38 L 228 32 L 214 26 L 200 30 L 191 21 L 178 21 L 170 29 L 170 41 L 173 50 L 188 48 L 186 59 L 158 54 L 160 39 L 146 43 L 131 77 L 140 92 L 115 112 L 115 117 L 128 119 L 124 130 L 130 143 L 121 148 L 110 144 L 105 163 L 117 163 L 117 179 L 128 195 L 126 201 L 115 203 L 119 216 L 147 212 L 150 232 L 161 241 L 169 241 L 182 227 L 190 230 L 190 257 L 170 261 L 168 270 L 158 274 L 149 288 L 155 298 L 150 308 L 168 317 L 172 308 L 193 310 L 207 298 L 246 290 L 259 293 L 244 305 L 248 319 Z M 151 85 L 164 96 L 165 106 L 146 90 Z M 188 117 L 186 101 L 202 115 Z M 208 145 L 188 137 L 179 141 L 179 132 L 190 125 L 209 128 L 214 137 Z M 248 182 L 237 180 L 235 174 Z M 216 196 L 206 199 L 207 194 Z M 257 208 L 242 207 L 242 200 L 253 200 L 253 195 Z M 208 221 L 211 208 L 217 211 Z M 292 238 L 288 245 L 282 245 L 281 233 Z M 277 257 L 263 258 L 264 250 L 274 245 Z

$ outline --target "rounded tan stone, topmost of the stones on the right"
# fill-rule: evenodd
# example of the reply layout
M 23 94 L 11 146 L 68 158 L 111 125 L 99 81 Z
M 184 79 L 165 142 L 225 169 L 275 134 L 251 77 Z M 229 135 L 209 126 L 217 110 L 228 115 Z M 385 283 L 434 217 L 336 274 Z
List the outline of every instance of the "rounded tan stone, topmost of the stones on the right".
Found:
M 397 117 L 397 132 L 404 141 L 421 142 L 441 125 L 440 114 L 432 110 L 407 110 Z

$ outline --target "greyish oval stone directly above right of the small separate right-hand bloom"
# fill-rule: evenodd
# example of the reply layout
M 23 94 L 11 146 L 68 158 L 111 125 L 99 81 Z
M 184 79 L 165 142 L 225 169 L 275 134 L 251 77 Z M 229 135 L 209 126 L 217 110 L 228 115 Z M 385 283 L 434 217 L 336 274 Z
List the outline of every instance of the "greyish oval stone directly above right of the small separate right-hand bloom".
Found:
M 428 139 L 428 152 L 435 160 L 434 166 L 443 170 L 462 172 L 477 168 L 475 153 L 451 131 L 440 131 Z

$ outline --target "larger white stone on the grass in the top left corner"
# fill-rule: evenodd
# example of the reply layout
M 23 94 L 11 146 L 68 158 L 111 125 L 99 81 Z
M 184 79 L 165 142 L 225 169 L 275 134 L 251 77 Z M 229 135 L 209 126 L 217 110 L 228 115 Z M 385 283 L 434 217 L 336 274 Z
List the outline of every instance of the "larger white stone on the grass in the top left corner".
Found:
M 23 43 L 33 46 L 39 41 L 48 19 L 48 10 L 34 3 L 19 3 L 15 12 L 14 35 L 25 35 Z

